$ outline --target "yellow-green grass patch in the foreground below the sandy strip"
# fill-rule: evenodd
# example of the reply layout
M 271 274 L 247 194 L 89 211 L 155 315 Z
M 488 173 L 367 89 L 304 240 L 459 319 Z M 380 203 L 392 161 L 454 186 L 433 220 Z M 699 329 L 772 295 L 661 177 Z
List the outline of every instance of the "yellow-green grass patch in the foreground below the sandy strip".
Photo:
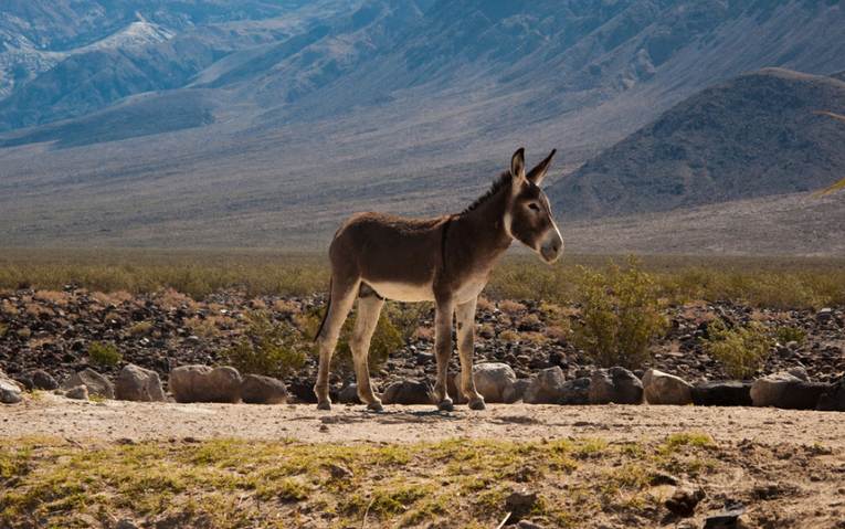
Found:
M 686 462 L 712 446 L 696 433 L 625 444 L 0 440 L 0 484 L 14 484 L 0 489 L 0 526 L 38 519 L 44 527 L 87 527 L 129 517 L 144 526 L 303 527 L 313 523 L 304 512 L 321 512 L 330 527 L 361 527 L 365 519 L 366 527 L 495 527 L 505 498 L 526 484 L 538 494 L 530 516 L 552 527 L 584 527 L 602 511 L 656 525 L 662 512 L 646 508 L 649 477 L 669 459 L 684 473 Z M 577 454 L 590 456 L 575 461 Z M 332 474 L 337 466 L 348 472 Z

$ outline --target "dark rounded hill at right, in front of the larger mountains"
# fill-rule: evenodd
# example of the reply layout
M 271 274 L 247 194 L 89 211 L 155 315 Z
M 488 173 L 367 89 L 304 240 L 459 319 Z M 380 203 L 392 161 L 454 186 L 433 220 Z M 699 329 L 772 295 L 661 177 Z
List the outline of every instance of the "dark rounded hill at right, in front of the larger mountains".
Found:
M 768 68 L 707 88 L 550 191 L 568 218 L 823 189 L 845 172 L 845 82 Z

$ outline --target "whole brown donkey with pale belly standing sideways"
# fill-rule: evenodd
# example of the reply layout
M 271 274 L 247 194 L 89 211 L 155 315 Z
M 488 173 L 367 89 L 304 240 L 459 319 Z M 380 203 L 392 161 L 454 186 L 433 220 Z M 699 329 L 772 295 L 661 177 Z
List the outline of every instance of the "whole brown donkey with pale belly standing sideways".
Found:
M 469 408 L 484 409 L 473 382 L 475 305 L 498 258 L 514 239 L 549 263 L 563 242 L 539 188 L 554 151 L 525 172 L 525 151 L 517 150 L 510 170 L 462 213 L 412 220 L 381 213 L 359 213 L 337 231 L 329 247 L 331 292 L 317 335 L 319 371 L 314 390 L 318 408 L 330 409 L 328 374 L 344 320 L 358 298 L 358 317 L 350 341 L 358 395 L 368 408 L 381 410 L 370 385 L 367 363 L 370 338 L 384 299 L 435 303 L 437 406 L 452 409 L 446 394 L 446 368 L 452 355 L 452 320 L 457 321 L 461 390 Z

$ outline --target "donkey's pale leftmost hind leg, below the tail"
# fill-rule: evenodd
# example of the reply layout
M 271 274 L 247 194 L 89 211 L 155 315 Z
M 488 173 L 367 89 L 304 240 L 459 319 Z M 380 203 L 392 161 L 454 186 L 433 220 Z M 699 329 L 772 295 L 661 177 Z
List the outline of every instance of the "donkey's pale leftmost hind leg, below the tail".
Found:
M 328 315 L 317 337 L 320 362 L 314 392 L 317 394 L 317 409 L 319 410 L 331 410 L 331 399 L 328 395 L 329 364 L 331 363 L 331 355 L 335 352 L 335 346 L 337 346 L 337 339 L 340 336 L 340 329 L 344 327 L 346 317 L 349 316 L 349 310 L 352 309 L 359 283 L 357 278 L 353 281 L 338 281 L 334 276 L 331 278 Z

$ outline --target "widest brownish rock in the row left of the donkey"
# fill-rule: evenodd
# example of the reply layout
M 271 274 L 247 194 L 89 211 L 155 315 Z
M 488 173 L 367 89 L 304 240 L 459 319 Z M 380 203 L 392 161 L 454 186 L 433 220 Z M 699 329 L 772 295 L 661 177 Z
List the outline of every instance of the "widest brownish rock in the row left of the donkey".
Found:
M 234 368 L 181 366 L 170 371 L 170 392 L 177 402 L 237 402 L 241 374 Z

